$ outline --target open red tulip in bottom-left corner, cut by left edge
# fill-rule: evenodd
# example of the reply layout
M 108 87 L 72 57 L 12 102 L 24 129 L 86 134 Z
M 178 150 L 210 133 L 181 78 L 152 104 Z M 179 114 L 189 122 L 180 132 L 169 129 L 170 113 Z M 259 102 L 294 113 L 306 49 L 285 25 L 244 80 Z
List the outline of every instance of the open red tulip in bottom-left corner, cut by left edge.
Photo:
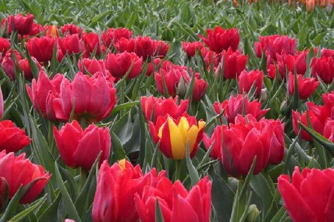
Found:
M 0 152 L 0 178 L 7 180 L 9 198 L 12 198 L 22 185 L 27 188 L 21 196 L 21 204 L 29 204 L 40 195 L 51 175 L 40 165 L 32 164 L 25 158 L 25 153 L 15 156 L 14 153 Z

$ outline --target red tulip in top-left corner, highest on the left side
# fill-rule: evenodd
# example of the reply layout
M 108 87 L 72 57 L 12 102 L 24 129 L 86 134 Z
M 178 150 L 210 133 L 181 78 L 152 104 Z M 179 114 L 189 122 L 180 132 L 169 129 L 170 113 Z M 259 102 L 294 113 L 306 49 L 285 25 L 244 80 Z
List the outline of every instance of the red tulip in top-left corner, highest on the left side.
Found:
M 18 34 L 26 35 L 29 34 L 32 28 L 33 15 L 27 14 L 23 16 L 22 14 L 9 15 L 7 18 L 7 24 L 12 30 L 15 30 Z

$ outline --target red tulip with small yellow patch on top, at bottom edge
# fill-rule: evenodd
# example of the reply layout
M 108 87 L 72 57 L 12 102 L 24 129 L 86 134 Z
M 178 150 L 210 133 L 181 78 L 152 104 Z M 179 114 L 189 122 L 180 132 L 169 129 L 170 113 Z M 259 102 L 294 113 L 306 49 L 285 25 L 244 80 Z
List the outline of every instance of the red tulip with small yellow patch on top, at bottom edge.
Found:
M 94 222 L 135 222 L 139 221 L 135 207 L 135 194 L 141 196 L 145 186 L 156 186 L 165 172 L 157 175 L 153 168 L 143 175 L 139 165 L 133 167 L 125 159 L 109 167 L 101 165 L 97 189 L 92 207 Z

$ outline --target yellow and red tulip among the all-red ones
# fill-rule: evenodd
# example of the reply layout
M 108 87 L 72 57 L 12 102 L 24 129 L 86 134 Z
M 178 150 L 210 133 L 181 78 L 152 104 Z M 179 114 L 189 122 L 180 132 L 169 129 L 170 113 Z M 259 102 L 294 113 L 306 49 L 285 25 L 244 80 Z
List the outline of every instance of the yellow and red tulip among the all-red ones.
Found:
M 195 116 L 185 113 L 176 120 L 169 115 L 158 116 L 156 124 L 150 121 L 149 127 L 154 142 L 157 144 L 160 140 L 159 149 L 166 157 L 184 159 L 188 141 L 190 157 L 196 155 L 205 122 L 202 120 L 197 122 Z

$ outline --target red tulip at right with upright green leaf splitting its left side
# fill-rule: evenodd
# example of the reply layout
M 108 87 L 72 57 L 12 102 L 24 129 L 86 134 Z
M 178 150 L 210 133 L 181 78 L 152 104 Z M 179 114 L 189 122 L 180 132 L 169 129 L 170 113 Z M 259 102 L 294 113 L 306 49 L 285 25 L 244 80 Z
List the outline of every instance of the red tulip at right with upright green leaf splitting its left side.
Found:
M 297 75 L 298 95 L 301 99 L 307 99 L 319 86 L 319 82 L 315 78 L 304 78 L 303 75 Z M 290 95 L 294 94 L 294 75 L 289 73 L 288 91 Z

